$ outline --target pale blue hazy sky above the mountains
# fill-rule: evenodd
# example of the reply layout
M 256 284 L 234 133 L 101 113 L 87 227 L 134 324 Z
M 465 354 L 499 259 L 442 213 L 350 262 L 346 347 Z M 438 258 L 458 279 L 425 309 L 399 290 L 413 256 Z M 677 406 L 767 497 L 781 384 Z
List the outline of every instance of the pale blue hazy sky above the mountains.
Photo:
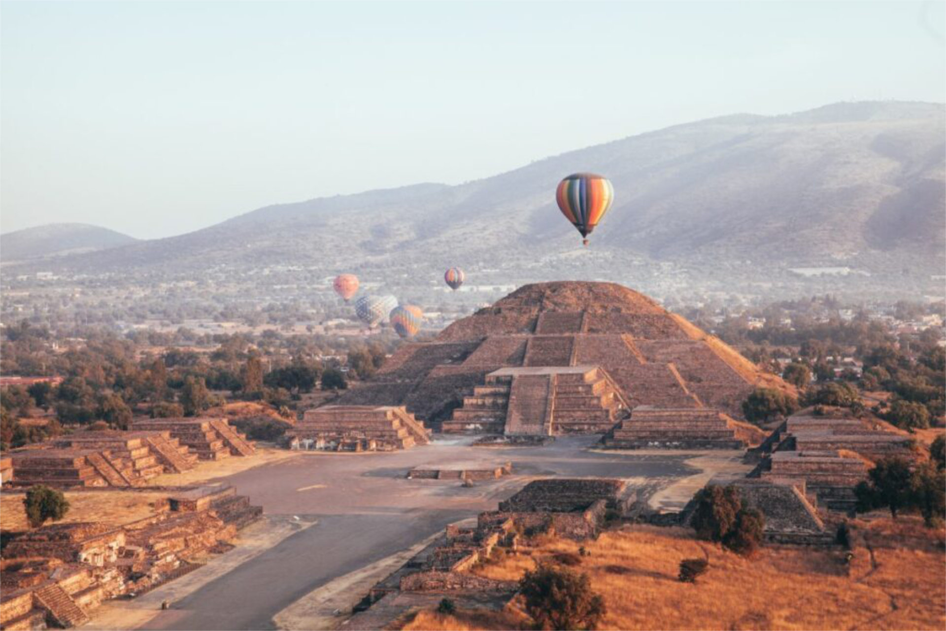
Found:
M 134 237 L 721 114 L 946 100 L 942 2 L 0 3 L 0 229 Z

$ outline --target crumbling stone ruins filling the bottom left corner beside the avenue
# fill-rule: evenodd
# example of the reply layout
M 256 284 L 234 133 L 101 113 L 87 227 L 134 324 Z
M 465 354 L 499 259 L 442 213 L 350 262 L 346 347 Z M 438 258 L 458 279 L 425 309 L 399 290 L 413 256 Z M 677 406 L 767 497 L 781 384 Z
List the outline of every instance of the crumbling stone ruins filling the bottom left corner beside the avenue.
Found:
M 232 487 L 184 491 L 150 517 L 120 527 L 59 523 L 5 533 L 0 626 L 76 626 L 102 601 L 139 594 L 200 565 L 195 557 L 258 518 Z

